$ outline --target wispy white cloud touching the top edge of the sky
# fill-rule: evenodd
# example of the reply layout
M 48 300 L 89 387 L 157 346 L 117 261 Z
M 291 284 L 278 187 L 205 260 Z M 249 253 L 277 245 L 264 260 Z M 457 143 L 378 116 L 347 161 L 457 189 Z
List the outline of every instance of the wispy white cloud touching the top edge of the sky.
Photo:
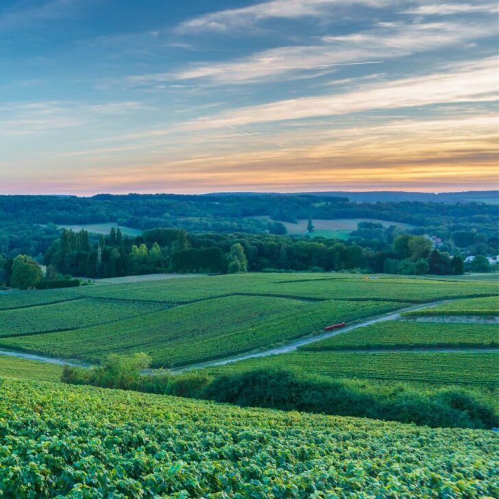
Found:
M 177 27 L 177 32 L 227 32 L 230 29 L 248 27 L 266 19 L 299 19 L 332 14 L 339 5 L 369 5 L 382 7 L 389 0 L 272 0 L 249 7 L 221 10 L 190 19 Z

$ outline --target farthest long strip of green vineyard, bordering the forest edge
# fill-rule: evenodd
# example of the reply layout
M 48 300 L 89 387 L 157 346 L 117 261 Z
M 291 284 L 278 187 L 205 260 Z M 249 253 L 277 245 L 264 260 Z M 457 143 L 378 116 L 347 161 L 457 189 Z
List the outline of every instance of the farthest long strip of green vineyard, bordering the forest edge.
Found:
M 304 300 L 382 300 L 424 303 L 452 297 L 497 295 L 493 282 L 448 282 L 422 278 L 363 279 L 354 274 L 273 274 L 165 279 L 88 286 L 80 295 L 111 300 L 191 303 L 235 294 L 273 295 Z

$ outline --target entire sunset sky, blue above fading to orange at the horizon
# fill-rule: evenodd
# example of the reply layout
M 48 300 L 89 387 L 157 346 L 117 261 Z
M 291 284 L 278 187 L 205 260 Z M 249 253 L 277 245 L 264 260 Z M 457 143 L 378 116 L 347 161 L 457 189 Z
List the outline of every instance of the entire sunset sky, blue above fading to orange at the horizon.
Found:
M 0 193 L 498 188 L 489 0 L 1 0 Z

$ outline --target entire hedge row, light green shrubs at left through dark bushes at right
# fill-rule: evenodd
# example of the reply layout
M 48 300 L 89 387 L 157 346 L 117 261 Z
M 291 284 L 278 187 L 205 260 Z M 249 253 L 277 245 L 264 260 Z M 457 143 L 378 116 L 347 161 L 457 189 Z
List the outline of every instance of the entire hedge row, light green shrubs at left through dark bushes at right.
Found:
M 146 354 L 112 354 L 91 369 L 64 367 L 61 380 L 243 407 L 369 417 L 433 428 L 491 428 L 498 424 L 494 407 L 484 395 L 457 387 L 424 390 L 402 383 L 332 380 L 287 369 L 256 369 L 217 378 L 199 371 L 143 374 L 149 363 Z

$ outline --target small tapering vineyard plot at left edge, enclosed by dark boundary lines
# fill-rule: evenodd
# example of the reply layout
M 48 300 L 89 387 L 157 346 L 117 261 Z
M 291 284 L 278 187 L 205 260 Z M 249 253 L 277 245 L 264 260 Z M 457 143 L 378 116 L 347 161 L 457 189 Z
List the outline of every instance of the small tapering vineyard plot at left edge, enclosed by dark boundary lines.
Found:
M 106 324 L 159 308 L 157 304 L 83 299 L 0 311 L 0 338 Z

